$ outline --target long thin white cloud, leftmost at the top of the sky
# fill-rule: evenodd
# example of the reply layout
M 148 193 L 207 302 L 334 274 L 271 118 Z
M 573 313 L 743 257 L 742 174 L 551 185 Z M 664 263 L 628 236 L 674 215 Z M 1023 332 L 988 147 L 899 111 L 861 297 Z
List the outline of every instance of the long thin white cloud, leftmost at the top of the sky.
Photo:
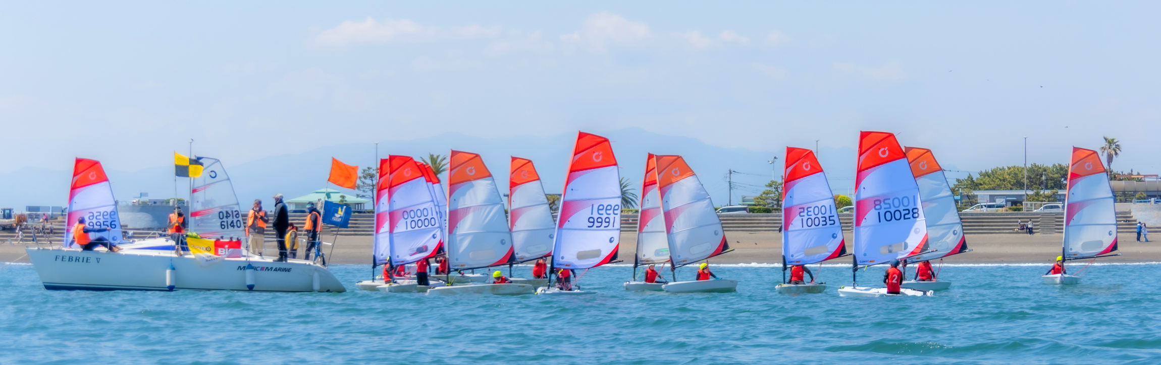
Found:
M 345 21 L 338 27 L 320 31 L 309 43 L 320 48 L 346 48 L 353 44 L 427 42 L 438 39 L 483 38 L 499 35 L 500 27 L 439 28 L 423 25 L 411 20 L 383 20 L 367 17 L 362 22 Z

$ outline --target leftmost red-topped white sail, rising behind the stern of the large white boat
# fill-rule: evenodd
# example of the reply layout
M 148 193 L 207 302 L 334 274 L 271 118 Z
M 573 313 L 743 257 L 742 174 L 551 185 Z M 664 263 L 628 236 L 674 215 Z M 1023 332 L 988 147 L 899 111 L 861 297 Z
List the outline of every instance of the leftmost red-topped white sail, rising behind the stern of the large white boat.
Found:
M 93 232 L 91 240 L 103 238 L 106 241 L 121 242 L 121 217 L 117 214 L 117 200 L 113 198 L 113 187 L 104 168 L 96 160 L 78 158 L 73 162 L 73 178 L 68 188 L 68 217 L 65 220 L 65 247 L 80 248 L 73 243 L 73 226 L 85 218 L 85 226 L 92 228 L 109 228 L 106 232 Z

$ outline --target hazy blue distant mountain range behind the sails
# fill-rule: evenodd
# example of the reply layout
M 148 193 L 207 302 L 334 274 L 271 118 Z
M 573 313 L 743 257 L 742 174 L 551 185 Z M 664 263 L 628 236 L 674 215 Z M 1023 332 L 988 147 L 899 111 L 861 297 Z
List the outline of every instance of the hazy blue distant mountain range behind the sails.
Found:
M 633 182 L 640 192 L 644 174 L 647 153 L 680 154 L 690 167 L 698 173 L 701 183 L 709 191 L 714 205 L 723 206 L 728 202 L 737 204 L 741 196 L 755 196 L 762 187 L 774 176 L 772 166 L 766 161 L 776 153 L 755 152 L 748 147 L 760 145 L 760 138 L 738 136 L 738 147 L 723 148 L 712 146 L 687 137 L 673 137 L 652 133 L 637 127 L 613 132 L 597 132 L 613 141 L 613 151 L 621 166 L 621 176 Z M 575 133 L 555 137 L 513 136 L 503 138 L 479 138 L 460 133 L 445 133 L 430 138 L 408 141 L 385 141 L 378 146 L 380 158 L 389 154 L 426 156 L 427 153 L 448 154 L 452 148 L 483 155 L 484 162 L 496 177 L 497 183 L 507 187 L 510 156 L 531 159 L 545 182 L 547 192 L 560 192 L 563 189 L 565 169 L 576 139 Z M 764 149 L 784 151 L 785 146 L 762 146 Z M 813 147 L 801 145 L 799 147 Z M 157 153 L 170 153 L 159 151 Z M 195 151 L 196 153 L 196 151 Z M 777 168 L 783 166 L 779 152 Z M 324 146 L 298 154 L 281 154 L 259 159 L 240 165 L 223 161 L 230 178 L 233 181 L 238 199 L 243 206 L 246 202 L 261 198 L 269 206 L 276 192 L 288 198 L 307 195 L 326 187 L 326 175 L 330 171 L 331 158 L 337 158 L 349 165 L 359 165 L 360 169 L 374 165 L 375 145 L 346 144 Z M 849 194 L 854 184 L 854 149 L 822 148 L 820 162 L 827 169 L 831 189 L 836 194 Z M 943 161 L 940 161 L 943 162 Z M 950 168 L 947 163 L 943 163 Z M 26 205 L 64 205 L 68 196 L 70 163 L 63 163 L 57 169 L 28 167 L 7 174 L 0 174 L 0 205 L 23 210 Z M 147 192 L 149 198 L 170 198 L 174 196 L 174 177 L 172 166 L 159 166 L 137 171 L 118 170 L 116 166 L 104 166 L 113 183 L 114 195 L 120 200 L 137 198 L 139 192 Z M 733 169 L 735 189 L 733 197 L 727 199 L 729 191 L 726 181 L 727 173 Z M 778 173 L 780 176 L 780 171 Z M 446 177 L 446 176 L 441 176 Z M 780 178 L 780 177 L 779 177 Z M 176 178 L 178 197 L 187 196 L 188 181 Z M 346 190 L 342 188 L 334 188 Z M 351 195 L 355 192 L 353 190 Z M 506 191 L 502 191 L 506 192 Z

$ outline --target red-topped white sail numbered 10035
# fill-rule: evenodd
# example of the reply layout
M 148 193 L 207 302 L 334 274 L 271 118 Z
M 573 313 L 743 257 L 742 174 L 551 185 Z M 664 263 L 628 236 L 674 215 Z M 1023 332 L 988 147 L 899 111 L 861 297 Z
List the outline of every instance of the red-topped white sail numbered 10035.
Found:
M 805 265 L 846 254 L 835 196 L 814 151 L 786 147 L 783 258 Z

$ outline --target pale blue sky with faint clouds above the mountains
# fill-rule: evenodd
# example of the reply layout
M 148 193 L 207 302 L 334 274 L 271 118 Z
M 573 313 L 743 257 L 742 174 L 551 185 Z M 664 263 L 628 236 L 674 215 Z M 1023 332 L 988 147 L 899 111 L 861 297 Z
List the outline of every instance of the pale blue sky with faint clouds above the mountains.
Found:
M 641 127 L 723 147 L 900 133 L 945 165 L 1123 141 L 1159 173 L 1155 2 L 16 2 L 0 173 L 228 165 L 460 132 Z M 684 151 L 693 154 L 697 151 Z M 853 156 L 852 156 L 853 159 Z M 636 174 L 636 173 L 632 173 Z

